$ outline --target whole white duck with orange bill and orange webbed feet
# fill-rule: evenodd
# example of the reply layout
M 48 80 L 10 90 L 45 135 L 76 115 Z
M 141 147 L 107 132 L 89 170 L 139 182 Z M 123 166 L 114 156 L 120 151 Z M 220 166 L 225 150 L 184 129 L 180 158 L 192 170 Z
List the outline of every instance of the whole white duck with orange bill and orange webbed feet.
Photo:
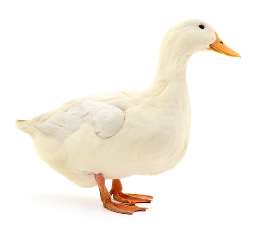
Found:
M 31 136 L 36 154 L 57 173 L 80 187 L 98 186 L 105 208 L 146 211 L 137 203 L 153 197 L 123 193 L 121 179 L 164 173 L 184 157 L 191 126 L 186 68 L 200 51 L 241 58 L 209 23 L 186 20 L 164 35 L 148 89 L 88 95 L 31 120 L 16 120 L 16 127 Z M 106 180 L 112 180 L 110 191 Z

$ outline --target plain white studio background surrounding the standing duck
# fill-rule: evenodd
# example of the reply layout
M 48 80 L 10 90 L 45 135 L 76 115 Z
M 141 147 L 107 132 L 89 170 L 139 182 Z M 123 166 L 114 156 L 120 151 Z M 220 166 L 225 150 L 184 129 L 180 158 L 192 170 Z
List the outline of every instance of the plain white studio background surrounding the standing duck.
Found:
M 1 1 L 1 234 L 256 234 L 255 7 L 226 2 Z M 154 196 L 148 211 L 110 212 L 97 187 L 40 161 L 14 122 L 92 93 L 148 88 L 164 33 L 189 18 L 210 22 L 242 59 L 192 56 L 184 159 L 122 181 L 126 193 Z

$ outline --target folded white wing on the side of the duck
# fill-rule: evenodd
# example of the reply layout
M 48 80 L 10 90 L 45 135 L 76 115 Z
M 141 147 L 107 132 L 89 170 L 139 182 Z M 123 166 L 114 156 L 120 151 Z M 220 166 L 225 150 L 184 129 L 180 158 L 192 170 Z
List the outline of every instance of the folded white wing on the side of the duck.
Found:
M 76 100 L 66 103 L 61 111 L 35 126 L 41 131 L 65 140 L 81 125 L 90 124 L 96 135 L 101 138 L 115 135 L 124 123 L 124 111 L 106 102 Z

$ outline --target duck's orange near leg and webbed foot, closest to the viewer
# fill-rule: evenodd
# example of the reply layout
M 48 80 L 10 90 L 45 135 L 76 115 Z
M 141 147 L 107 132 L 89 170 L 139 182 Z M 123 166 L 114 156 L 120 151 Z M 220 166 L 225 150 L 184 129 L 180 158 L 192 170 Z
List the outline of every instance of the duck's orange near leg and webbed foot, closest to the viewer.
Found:
M 122 214 L 133 214 L 135 211 L 146 211 L 146 207 L 139 207 L 136 206 L 135 203 L 117 203 L 117 202 L 112 202 L 111 195 L 108 192 L 108 189 L 106 188 L 105 185 L 105 178 L 104 176 L 99 173 L 99 174 L 94 174 L 94 178 L 99 186 L 99 192 L 101 195 L 101 201 L 103 202 L 103 206 L 108 208 L 110 211 L 114 211 L 117 213 L 122 213 Z

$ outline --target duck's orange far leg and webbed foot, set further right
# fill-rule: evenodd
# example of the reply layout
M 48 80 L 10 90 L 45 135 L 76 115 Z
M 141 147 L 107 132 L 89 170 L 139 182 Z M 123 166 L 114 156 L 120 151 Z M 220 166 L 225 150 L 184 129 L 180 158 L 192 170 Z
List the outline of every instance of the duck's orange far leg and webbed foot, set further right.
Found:
M 112 188 L 110 190 L 110 195 L 113 195 L 113 197 L 119 201 L 119 202 L 151 202 L 153 199 L 152 196 L 148 195 L 142 195 L 142 194 L 131 194 L 131 193 L 123 193 L 123 186 L 121 184 L 120 180 L 113 180 L 112 182 Z

